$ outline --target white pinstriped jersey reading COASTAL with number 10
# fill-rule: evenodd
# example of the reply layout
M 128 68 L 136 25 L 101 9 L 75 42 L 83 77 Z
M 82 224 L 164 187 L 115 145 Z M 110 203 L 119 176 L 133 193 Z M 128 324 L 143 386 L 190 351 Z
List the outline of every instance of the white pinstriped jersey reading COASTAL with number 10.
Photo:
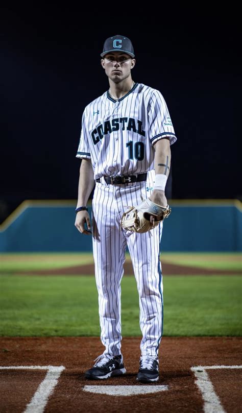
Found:
M 85 107 L 76 157 L 91 159 L 94 179 L 141 174 L 154 169 L 153 145 L 164 137 L 177 140 L 161 92 L 135 83 L 117 101 L 106 91 Z

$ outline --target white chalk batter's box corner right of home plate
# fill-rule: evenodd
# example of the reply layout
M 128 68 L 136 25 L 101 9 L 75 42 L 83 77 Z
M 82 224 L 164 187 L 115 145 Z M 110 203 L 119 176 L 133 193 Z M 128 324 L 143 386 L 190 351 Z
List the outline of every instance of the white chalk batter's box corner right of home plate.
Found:
M 216 369 L 242 369 L 242 366 L 195 366 L 191 371 L 196 376 L 196 384 L 202 393 L 205 413 L 226 413 L 214 387 L 208 377 L 206 370 Z

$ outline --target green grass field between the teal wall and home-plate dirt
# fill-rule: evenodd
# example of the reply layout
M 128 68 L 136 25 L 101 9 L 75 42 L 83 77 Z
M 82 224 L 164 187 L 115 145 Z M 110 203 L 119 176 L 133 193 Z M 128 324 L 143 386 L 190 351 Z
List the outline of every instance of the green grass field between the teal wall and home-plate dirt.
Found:
M 189 254 L 163 254 L 164 260 L 173 263 L 227 270 L 241 269 L 240 258 L 238 254 L 190 254 L 189 260 Z M 16 270 L 92 262 L 91 254 L 5 254 L 0 260 L 1 336 L 100 335 L 94 275 L 12 275 Z M 239 275 L 164 275 L 163 284 L 164 335 L 241 336 Z M 122 334 L 141 334 L 134 277 L 124 276 L 122 280 Z

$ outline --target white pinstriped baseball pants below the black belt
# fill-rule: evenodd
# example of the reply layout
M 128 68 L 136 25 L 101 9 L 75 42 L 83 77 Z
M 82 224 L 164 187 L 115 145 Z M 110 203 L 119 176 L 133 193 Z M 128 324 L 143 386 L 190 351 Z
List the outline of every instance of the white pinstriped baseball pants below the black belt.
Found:
M 139 294 L 142 355 L 156 355 L 163 330 L 163 283 L 159 260 L 162 222 L 151 233 L 120 230 L 128 206 L 151 195 L 154 171 L 147 181 L 108 185 L 101 178 L 92 200 L 92 246 L 95 280 L 99 295 L 101 341 L 105 354 L 121 353 L 121 288 L 125 251 L 128 246 Z

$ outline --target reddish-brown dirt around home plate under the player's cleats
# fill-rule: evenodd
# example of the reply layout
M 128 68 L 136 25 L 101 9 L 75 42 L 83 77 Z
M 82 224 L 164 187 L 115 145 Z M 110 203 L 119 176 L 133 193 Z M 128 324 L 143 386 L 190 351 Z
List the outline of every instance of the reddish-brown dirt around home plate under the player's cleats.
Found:
M 140 338 L 137 337 L 123 339 L 126 375 L 93 382 L 84 378 L 84 372 L 103 352 L 98 337 L 1 337 L 0 365 L 4 368 L 0 370 L 0 411 L 22 412 L 28 403 L 33 405 L 36 400 L 39 408 L 43 404 L 45 413 L 147 413 L 151 410 L 190 413 L 204 411 L 206 403 L 207 411 L 211 412 L 241 411 L 241 338 L 163 337 L 159 351 L 160 379 L 148 385 L 149 392 L 150 388 L 158 392 L 143 394 L 146 385 L 139 384 L 139 395 L 114 396 L 115 391 L 125 392 L 125 386 L 136 389 L 138 385 L 139 343 Z M 22 368 L 16 369 L 19 366 Z M 42 366 L 46 368 L 41 370 Z M 206 368 L 191 370 L 196 366 Z M 53 371 L 44 382 L 47 368 Z M 196 382 L 196 376 L 199 375 L 203 377 L 203 395 Z M 44 392 L 52 384 L 52 392 L 49 397 L 45 397 Z M 111 395 L 87 393 L 87 390 L 93 391 L 90 387 L 93 385 L 98 386 L 98 391 L 107 391 L 108 387 L 105 386 L 113 386 Z M 210 398 L 210 404 L 206 402 L 206 397 Z M 222 410 L 218 409 L 218 403 Z

